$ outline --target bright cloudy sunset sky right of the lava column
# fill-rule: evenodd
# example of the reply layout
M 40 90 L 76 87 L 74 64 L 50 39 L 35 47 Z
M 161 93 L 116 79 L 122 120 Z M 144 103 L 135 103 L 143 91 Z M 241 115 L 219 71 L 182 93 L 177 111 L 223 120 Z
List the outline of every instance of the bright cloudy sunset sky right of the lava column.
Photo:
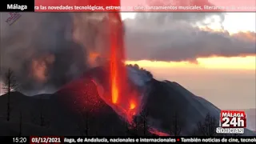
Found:
M 222 109 L 255 108 L 255 13 L 122 13 L 127 63 Z

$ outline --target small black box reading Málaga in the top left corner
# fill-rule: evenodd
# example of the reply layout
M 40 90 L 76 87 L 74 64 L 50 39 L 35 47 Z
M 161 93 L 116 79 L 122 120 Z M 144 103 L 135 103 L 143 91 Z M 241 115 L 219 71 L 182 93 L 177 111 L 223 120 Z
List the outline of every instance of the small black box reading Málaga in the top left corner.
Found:
M 0 12 L 34 12 L 34 0 L 4 0 Z

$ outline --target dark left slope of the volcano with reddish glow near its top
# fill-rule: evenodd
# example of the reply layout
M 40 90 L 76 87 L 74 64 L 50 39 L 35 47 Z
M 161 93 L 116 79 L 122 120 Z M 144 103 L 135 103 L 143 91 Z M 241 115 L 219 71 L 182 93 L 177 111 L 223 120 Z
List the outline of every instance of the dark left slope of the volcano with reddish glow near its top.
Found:
M 128 124 L 102 101 L 90 77 L 70 82 L 46 96 L 12 92 L 7 122 L 7 95 L 2 95 L 0 135 L 18 135 L 20 131 L 22 135 L 127 135 Z

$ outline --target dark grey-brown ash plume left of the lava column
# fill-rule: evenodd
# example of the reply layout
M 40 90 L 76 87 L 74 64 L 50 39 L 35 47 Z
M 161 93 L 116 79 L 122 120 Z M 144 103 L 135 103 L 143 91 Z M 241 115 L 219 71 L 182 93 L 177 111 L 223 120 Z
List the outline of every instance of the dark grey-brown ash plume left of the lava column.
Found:
M 14 70 L 26 94 L 58 90 L 92 66 L 90 52 L 105 49 L 96 33 L 102 15 L 22 13 L 9 26 L 5 20 L 10 14 L 2 13 L 1 76 Z

